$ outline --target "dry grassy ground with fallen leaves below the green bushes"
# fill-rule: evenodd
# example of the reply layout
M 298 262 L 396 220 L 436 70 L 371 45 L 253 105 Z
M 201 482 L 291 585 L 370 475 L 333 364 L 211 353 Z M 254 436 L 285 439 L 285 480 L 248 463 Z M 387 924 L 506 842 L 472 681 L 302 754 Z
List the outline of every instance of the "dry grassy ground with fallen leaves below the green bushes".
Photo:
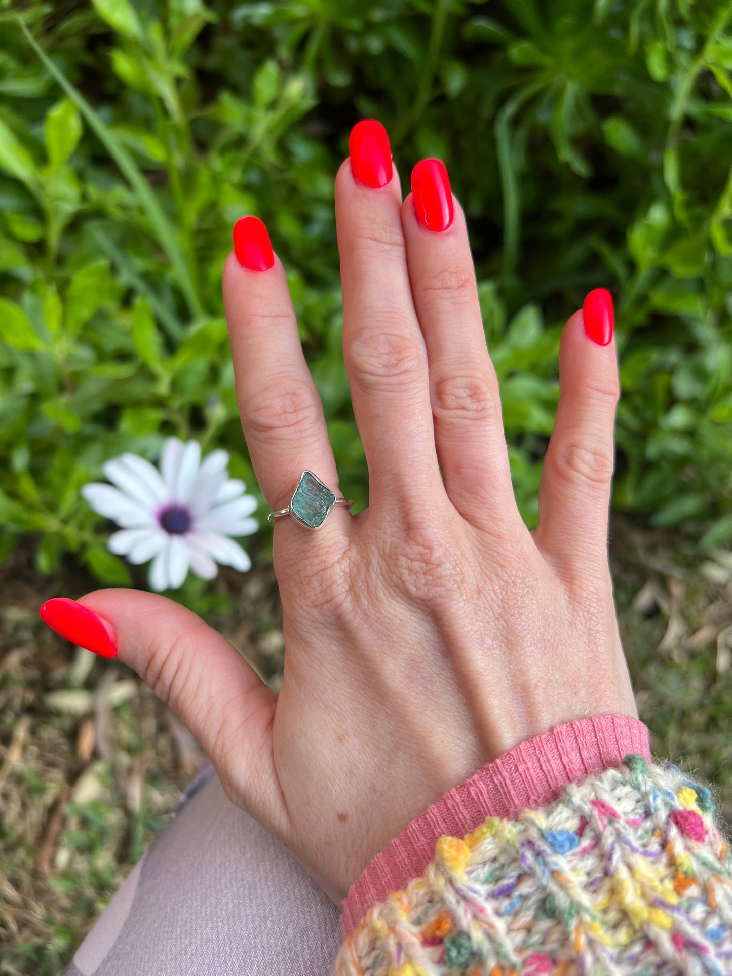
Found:
M 23 554 L 24 553 L 24 554 Z M 621 632 L 654 752 L 714 784 L 732 816 L 732 556 L 704 562 L 668 531 L 616 518 Z M 90 581 L 70 564 L 63 591 Z M 136 675 L 45 629 L 61 581 L 20 549 L 0 570 L 0 972 L 59 973 L 165 825 L 201 753 Z M 283 661 L 271 570 L 217 582 L 211 623 L 275 684 Z

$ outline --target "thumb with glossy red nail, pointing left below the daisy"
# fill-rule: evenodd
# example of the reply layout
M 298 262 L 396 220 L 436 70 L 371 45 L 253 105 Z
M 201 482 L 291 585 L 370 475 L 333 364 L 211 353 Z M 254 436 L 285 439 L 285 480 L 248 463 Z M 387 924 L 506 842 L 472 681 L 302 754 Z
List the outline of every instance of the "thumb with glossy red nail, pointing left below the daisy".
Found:
M 229 797 L 276 820 L 272 759 L 276 694 L 235 647 L 192 611 L 142 590 L 96 590 L 40 609 L 61 636 L 140 674 L 214 763 Z

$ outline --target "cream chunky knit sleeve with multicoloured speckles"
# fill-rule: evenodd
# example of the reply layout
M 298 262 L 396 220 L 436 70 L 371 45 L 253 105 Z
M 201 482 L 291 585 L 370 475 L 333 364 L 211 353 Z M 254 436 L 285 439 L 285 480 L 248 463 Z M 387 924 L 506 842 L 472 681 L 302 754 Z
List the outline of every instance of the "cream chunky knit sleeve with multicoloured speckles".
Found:
M 710 792 L 629 755 L 544 811 L 441 837 L 337 976 L 726 976 L 732 858 Z

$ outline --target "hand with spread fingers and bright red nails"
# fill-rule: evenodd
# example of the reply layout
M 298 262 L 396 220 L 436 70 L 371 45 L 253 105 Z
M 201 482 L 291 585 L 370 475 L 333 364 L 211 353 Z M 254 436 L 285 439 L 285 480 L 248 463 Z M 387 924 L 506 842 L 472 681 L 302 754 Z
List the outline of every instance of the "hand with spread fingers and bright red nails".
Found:
M 564 330 L 530 533 L 465 219 L 445 180 L 441 164 L 420 164 L 402 202 L 373 124 L 351 137 L 336 180 L 344 356 L 370 505 L 335 508 L 317 532 L 276 523 L 279 697 L 172 601 L 132 590 L 82 601 L 206 749 L 234 803 L 336 901 L 487 761 L 561 722 L 635 714 L 606 552 L 618 398 L 609 296 L 590 295 Z M 336 494 L 338 471 L 263 229 L 240 225 L 238 253 L 265 269 L 230 255 L 224 303 L 252 462 L 269 505 L 284 508 L 304 469 Z

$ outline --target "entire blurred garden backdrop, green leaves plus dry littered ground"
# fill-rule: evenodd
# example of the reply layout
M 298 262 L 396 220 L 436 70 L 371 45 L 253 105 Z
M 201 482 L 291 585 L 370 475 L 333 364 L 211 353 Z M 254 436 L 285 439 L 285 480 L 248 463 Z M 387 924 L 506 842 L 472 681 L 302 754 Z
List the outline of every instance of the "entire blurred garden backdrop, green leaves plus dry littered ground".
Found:
M 341 355 L 333 181 L 383 121 L 403 190 L 444 159 L 467 214 L 529 524 L 561 327 L 612 290 L 623 397 L 613 569 L 654 748 L 732 813 L 732 3 L 0 0 L 0 971 L 60 971 L 198 758 L 43 599 L 144 586 L 79 488 L 166 436 L 225 447 L 221 270 L 257 214 L 287 268 L 341 483 L 368 501 Z M 189 580 L 275 686 L 256 571 Z

